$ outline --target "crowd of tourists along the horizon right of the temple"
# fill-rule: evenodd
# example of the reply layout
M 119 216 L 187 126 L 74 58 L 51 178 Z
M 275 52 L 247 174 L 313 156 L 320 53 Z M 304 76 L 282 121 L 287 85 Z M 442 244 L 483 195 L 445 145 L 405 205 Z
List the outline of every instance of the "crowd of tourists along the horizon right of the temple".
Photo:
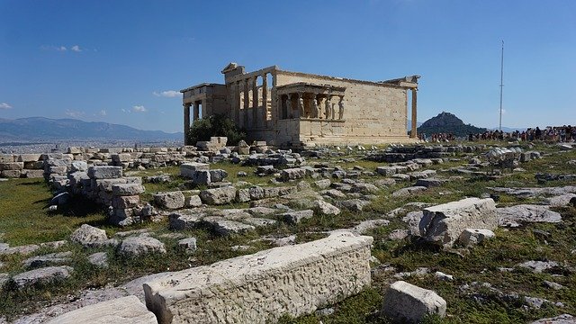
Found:
M 419 134 L 419 139 L 429 142 L 447 142 L 455 139 L 454 134 L 437 133 L 427 136 L 426 134 Z M 564 125 L 561 127 L 546 127 L 545 129 L 528 128 L 527 130 L 515 130 L 512 132 L 504 132 L 502 130 L 487 130 L 483 133 L 469 134 L 468 140 L 518 140 L 518 141 L 556 141 L 556 142 L 569 142 L 576 141 L 576 126 Z

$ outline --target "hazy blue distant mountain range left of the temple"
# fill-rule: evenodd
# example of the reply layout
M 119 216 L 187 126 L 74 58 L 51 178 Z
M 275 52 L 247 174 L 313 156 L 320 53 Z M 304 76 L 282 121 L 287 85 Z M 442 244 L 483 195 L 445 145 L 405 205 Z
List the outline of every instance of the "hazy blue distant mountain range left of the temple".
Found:
M 130 126 L 102 121 L 79 121 L 75 119 L 49 119 L 44 117 L 0 118 L 0 140 L 177 140 L 183 133 L 167 133 L 161 130 L 137 130 Z

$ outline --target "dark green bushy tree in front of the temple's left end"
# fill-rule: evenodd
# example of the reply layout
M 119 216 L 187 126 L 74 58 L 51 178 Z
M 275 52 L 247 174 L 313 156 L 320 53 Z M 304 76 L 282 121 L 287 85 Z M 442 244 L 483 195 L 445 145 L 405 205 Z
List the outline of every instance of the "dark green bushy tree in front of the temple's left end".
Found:
M 189 143 L 194 144 L 199 140 L 210 140 L 212 136 L 225 136 L 228 138 L 228 145 L 237 145 L 240 139 L 246 139 L 246 132 L 239 130 L 234 121 L 226 115 L 214 114 L 194 121 L 186 136 Z

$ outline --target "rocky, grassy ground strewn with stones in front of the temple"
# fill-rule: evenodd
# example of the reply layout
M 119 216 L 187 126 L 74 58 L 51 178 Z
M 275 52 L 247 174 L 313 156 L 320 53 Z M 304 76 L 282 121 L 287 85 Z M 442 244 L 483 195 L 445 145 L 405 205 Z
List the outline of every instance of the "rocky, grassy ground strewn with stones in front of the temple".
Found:
M 106 212 L 80 199 L 48 211 L 54 201 L 41 181 L 0 182 L 0 322 L 40 323 L 121 296 L 143 301 L 141 284 L 149 275 L 341 229 L 374 237 L 372 286 L 281 322 L 388 322 L 391 289 L 406 289 L 393 284 L 400 281 L 445 302 L 445 313 L 428 322 L 531 322 L 574 314 L 576 150 L 569 144 L 500 147 L 508 151 L 464 144 L 393 152 L 224 152 L 211 158 L 210 170 L 226 174 L 212 172 L 220 177 L 213 183 L 202 183 L 206 173 L 181 177 L 178 166 L 126 170 L 143 178 L 140 199 L 157 214 L 124 228 L 108 225 Z M 473 212 L 459 209 L 457 216 L 471 221 L 438 240 L 434 206 L 469 197 L 479 201 Z M 476 211 L 492 212 L 493 222 L 473 222 Z

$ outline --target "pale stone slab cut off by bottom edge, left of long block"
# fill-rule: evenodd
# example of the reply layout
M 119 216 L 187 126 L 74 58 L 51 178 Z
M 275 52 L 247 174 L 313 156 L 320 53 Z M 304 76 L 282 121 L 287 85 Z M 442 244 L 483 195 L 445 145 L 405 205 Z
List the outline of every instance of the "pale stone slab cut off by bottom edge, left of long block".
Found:
M 122 297 L 107 302 L 69 311 L 50 320 L 48 324 L 156 324 L 156 316 L 136 296 Z

